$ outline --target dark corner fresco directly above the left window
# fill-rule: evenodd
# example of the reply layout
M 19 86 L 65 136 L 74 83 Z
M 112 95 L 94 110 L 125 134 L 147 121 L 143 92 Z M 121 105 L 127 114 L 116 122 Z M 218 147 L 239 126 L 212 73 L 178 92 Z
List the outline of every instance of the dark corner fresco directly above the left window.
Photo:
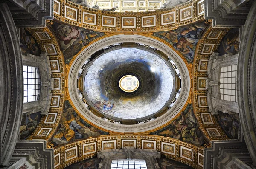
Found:
M 27 55 L 32 54 L 40 56 L 41 49 L 29 31 L 26 31 L 24 28 L 20 28 L 20 48 L 21 54 Z

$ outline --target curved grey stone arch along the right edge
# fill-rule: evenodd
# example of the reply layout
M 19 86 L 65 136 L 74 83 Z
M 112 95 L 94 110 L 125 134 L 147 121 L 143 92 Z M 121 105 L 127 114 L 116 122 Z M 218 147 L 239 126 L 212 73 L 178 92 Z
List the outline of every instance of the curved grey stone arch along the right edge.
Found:
M 250 9 L 241 37 L 237 64 L 237 96 L 243 130 L 251 157 L 256 157 L 256 2 Z M 256 164 L 256 158 L 253 158 Z

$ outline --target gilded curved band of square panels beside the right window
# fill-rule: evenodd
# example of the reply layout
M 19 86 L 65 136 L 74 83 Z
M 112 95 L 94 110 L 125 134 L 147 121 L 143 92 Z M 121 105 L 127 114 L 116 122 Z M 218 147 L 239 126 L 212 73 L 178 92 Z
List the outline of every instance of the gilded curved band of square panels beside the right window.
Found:
M 210 25 L 202 39 L 198 42 L 195 50 L 193 64 L 193 109 L 197 116 L 202 132 L 209 141 L 229 139 L 222 128 L 219 126 L 217 119 L 209 112 L 207 103 L 207 88 L 198 88 L 198 79 L 207 79 L 207 64 L 212 52 L 218 50 L 219 44 L 230 29 L 212 28 Z M 202 119 L 205 118 L 205 119 Z

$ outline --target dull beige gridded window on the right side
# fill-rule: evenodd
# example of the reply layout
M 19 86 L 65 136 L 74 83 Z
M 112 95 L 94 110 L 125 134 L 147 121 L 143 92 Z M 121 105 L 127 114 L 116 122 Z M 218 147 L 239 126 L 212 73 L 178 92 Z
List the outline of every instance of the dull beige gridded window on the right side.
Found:
M 236 65 L 222 67 L 220 81 L 221 100 L 237 102 Z

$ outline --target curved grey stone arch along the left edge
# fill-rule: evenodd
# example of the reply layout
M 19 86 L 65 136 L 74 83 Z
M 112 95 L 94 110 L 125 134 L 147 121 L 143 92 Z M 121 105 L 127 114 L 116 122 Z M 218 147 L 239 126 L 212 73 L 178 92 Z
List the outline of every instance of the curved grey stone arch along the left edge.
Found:
M 20 133 L 23 107 L 23 66 L 15 23 L 0 3 L 0 165 L 6 166 Z

